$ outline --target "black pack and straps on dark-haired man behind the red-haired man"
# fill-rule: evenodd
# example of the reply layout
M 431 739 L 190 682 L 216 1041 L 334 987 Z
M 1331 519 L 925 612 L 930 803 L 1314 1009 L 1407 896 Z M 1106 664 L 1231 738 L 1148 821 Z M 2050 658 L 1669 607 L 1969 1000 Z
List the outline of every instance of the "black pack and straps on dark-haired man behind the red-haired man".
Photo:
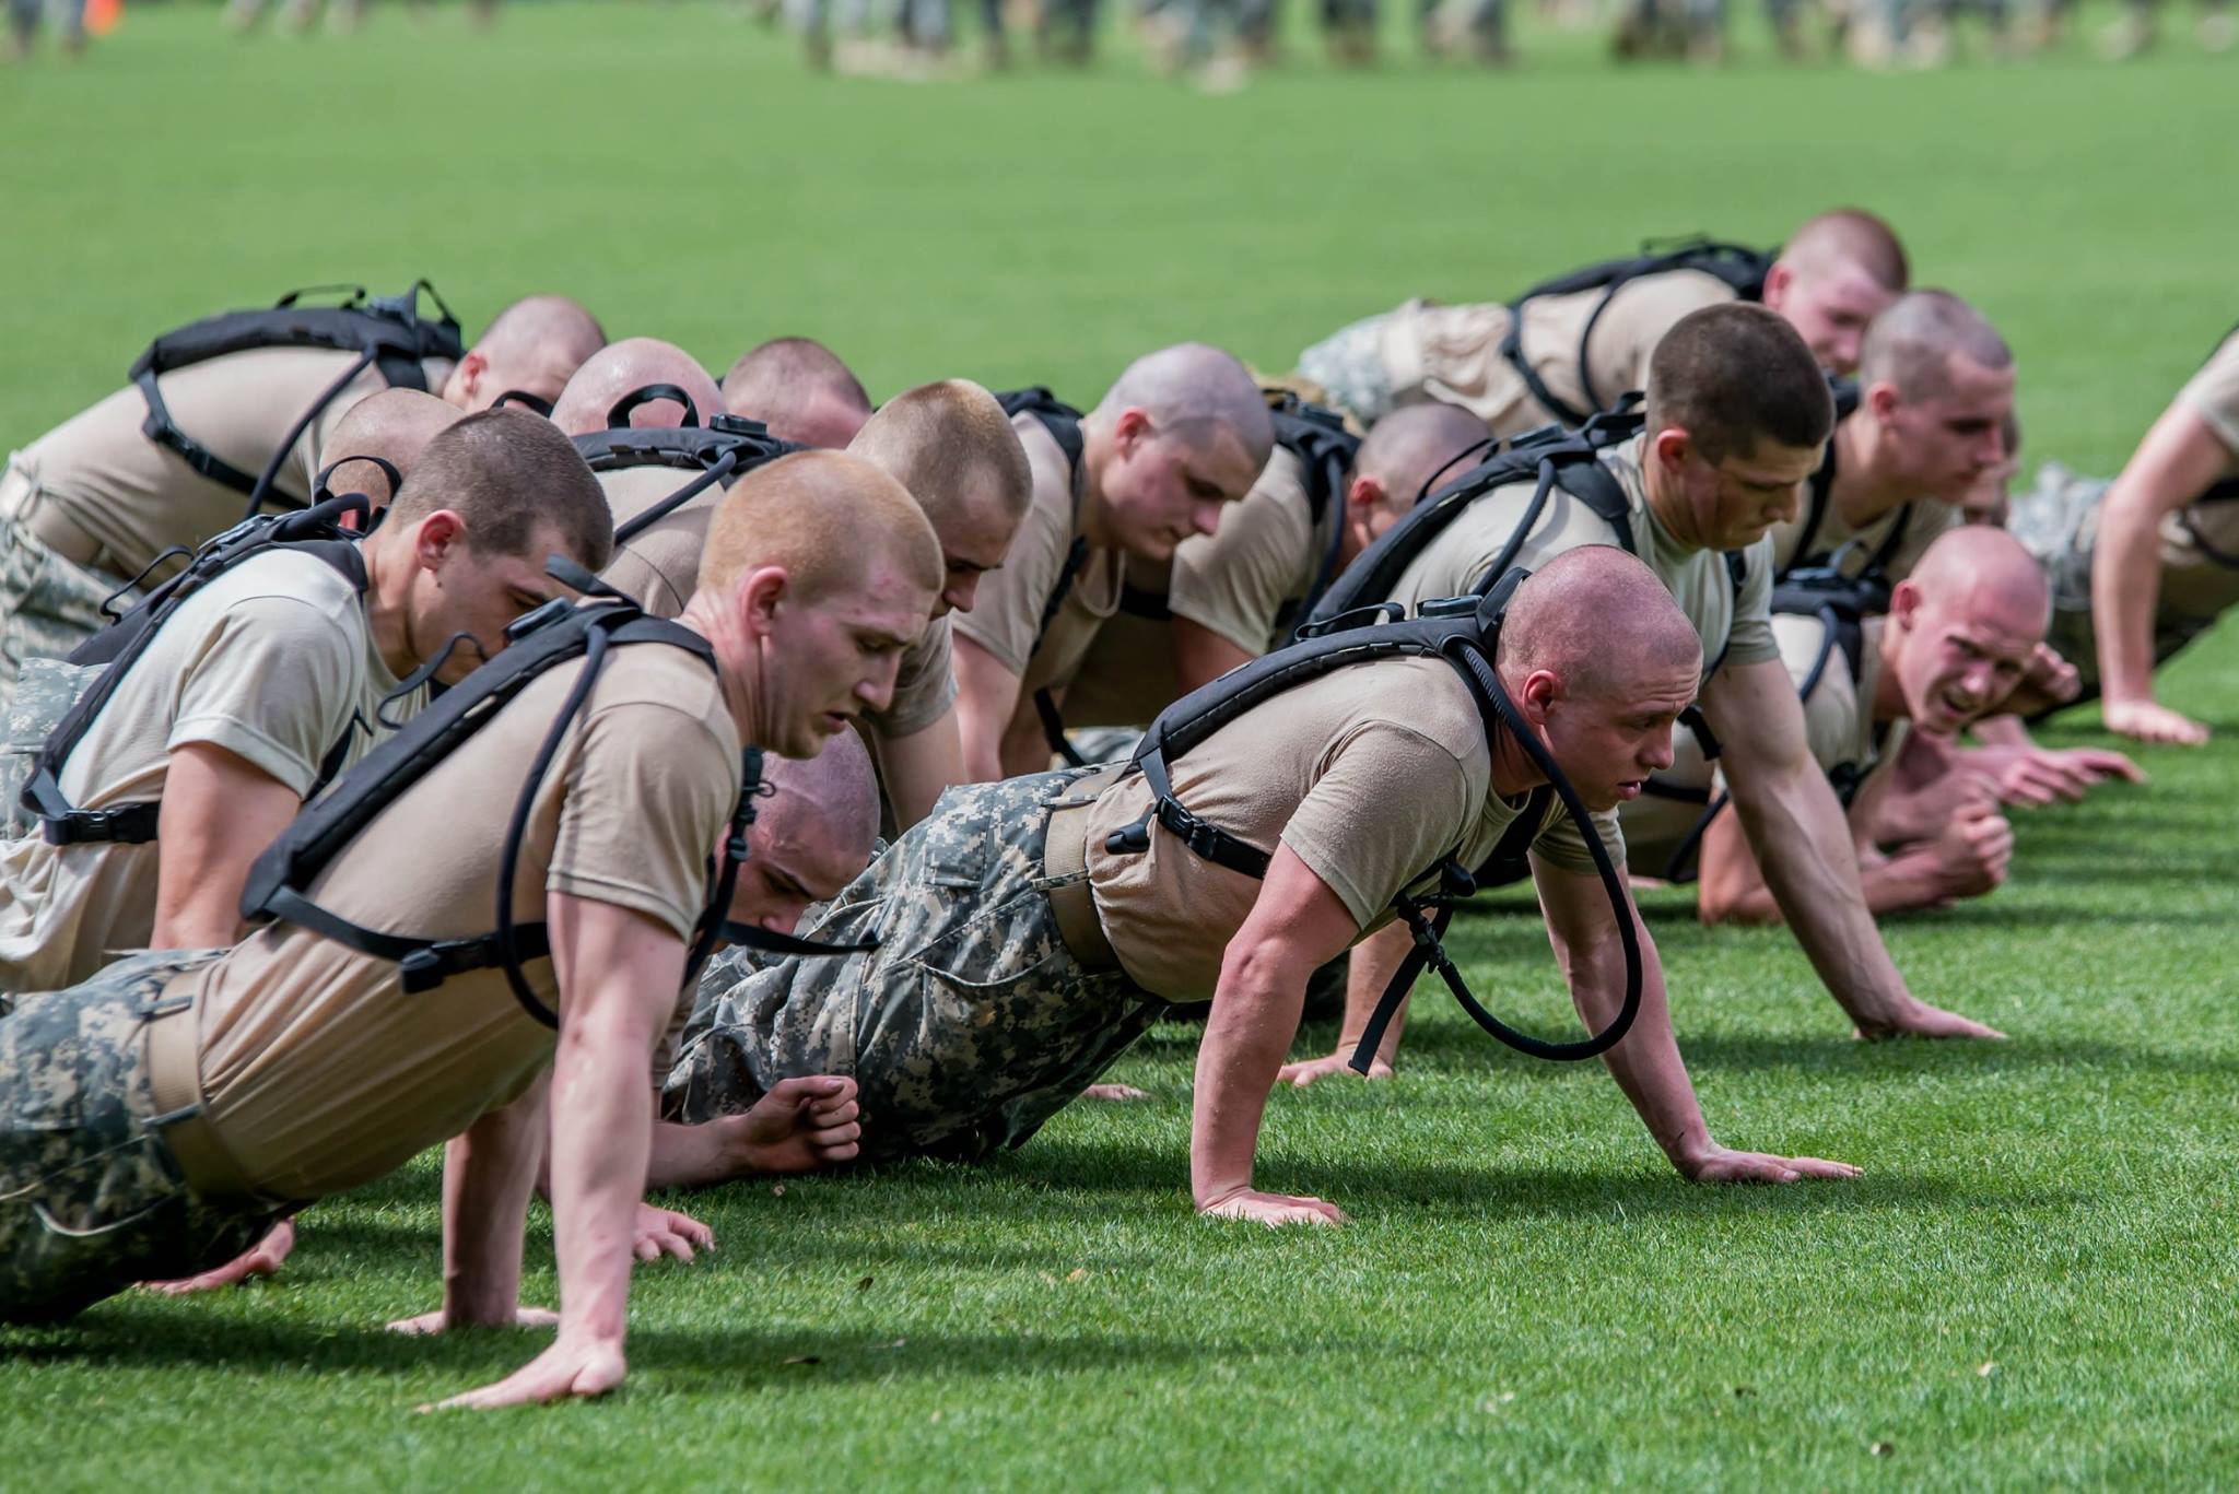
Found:
M 110 809 L 78 809 L 72 804 L 63 793 L 63 768 L 67 766 L 69 755 L 85 739 L 85 732 L 92 730 L 101 710 L 110 703 L 110 699 L 114 699 L 116 688 L 123 683 L 132 665 L 139 663 L 139 659 L 148 652 L 148 645 L 154 643 L 163 623 L 168 623 L 190 596 L 208 587 L 226 571 L 284 547 L 327 562 L 352 585 L 352 589 L 363 594 L 367 585 L 365 555 L 358 551 L 356 535 L 345 533 L 336 522 L 343 513 L 363 515 L 363 511 L 365 497 L 349 495 L 302 513 L 262 517 L 244 524 L 242 529 L 228 531 L 206 544 L 184 571 L 148 594 L 148 598 L 143 598 L 132 611 L 72 652 L 69 663 L 105 667 L 47 735 L 47 741 L 40 746 L 38 759 L 31 766 L 31 777 L 22 786 L 20 804 L 40 822 L 40 833 L 49 844 L 146 844 L 157 838 L 157 822 L 163 813 L 161 800 L 134 800 L 130 804 L 112 804 Z M 331 777 L 331 768 L 340 764 L 340 755 L 349 744 L 352 730 L 354 728 L 345 728 L 343 737 L 329 746 L 327 757 L 320 764 L 320 784 L 325 784 L 327 777 Z

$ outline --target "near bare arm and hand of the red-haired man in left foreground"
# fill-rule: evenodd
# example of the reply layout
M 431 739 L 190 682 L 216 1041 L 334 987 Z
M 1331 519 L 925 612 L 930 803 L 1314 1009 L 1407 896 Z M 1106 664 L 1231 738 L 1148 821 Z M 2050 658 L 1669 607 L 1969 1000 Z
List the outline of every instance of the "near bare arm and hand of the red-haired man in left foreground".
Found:
M 600 1395 L 625 1373 L 631 1221 L 654 1136 L 645 1075 L 683 986 L 685 945 L 645 914 L 560 891 L 546 898 L 546 921 L 564 992 L 551 1082 L 560 1337 L 506 1380 L 446 1402 L 455 1407 Z

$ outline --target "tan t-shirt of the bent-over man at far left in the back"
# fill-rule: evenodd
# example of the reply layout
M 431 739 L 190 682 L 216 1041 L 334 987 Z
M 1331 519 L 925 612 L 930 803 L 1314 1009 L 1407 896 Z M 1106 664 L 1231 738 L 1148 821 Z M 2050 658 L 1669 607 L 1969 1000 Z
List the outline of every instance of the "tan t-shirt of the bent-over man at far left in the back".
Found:
M 237 352 L 163 374 L 157 387 L 179 430 L 257 477 L 280 439 L 356 356 L 318 347 Z M 441 387 L 443 370 L 446 363 L 425 365 L 430 390 Z M 349 405 L 385 387 L 378 367 L 345 385 L 280 464 L 273 479 L 280 493 L 309 499 L 336 423 Z M 249 502 L 141 435 L 146 419 L 148 399 L 128 385 L 11 457 L 45 502 L 101 542 L 107 553 L 99 564 L 128 578 L 175 544 L 193 549 L 231 529 Z

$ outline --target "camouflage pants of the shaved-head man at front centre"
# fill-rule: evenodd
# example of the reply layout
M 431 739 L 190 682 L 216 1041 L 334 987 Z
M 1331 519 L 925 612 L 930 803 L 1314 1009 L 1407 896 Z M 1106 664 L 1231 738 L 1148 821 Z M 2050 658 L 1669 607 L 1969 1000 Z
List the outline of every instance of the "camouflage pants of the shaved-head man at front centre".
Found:
M 813 939 L 866 954 L 732 952 L 701 977 L 663 1113 L 737 1115 L 772 1084 L 846 1073 L 866 1160 L 981 1160 L 1075 1100 L 1160 1010 L 1066 950 L 1041 869 L 1052 804 L 1084 771 L 940 795 L 842 891 Z

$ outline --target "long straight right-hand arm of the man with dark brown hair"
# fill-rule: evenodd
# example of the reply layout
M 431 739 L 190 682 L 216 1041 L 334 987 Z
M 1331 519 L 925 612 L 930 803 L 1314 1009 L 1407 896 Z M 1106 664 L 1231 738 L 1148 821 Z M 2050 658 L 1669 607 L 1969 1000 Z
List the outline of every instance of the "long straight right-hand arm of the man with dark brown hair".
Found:
M 1867 1037 L 1995 1037 L 1905 990 L 1865 907 L 1858 856 L 1834 786 L 1811 759 L 1805 710 L 1778 659 L 1726 665 L 1702 694 L 1724 744 L 1726 788 L 1780 914 L 1827 992 Z

